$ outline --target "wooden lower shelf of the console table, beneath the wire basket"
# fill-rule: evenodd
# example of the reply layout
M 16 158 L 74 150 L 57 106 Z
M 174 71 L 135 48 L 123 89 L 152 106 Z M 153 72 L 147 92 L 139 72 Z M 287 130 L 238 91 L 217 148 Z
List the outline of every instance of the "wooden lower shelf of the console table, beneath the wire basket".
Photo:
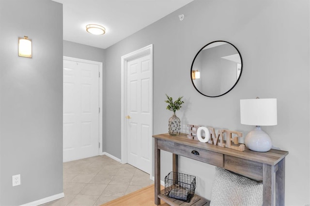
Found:
M 189 203 L 183 202 L 182 200 L 174 199 L 165 195 L 165 190 L 161 190 L 158 197 L 168 203 L 171 206 L 210 206 L 210 200 L 207 200 L 203 197 L 194 194 L 193 198 Z

